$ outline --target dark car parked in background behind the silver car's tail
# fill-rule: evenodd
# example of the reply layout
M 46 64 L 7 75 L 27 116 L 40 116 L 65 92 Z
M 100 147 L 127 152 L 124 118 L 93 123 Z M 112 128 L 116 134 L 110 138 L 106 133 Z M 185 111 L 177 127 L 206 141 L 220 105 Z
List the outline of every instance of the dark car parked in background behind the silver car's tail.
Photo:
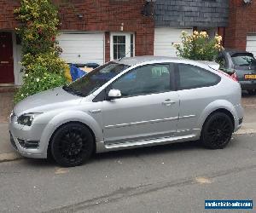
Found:
M 217 58 L 220 69 L 241 84 L 249 95 L 256 94 L 256 59 L 252 53 L 238 49 L 225 49 Z

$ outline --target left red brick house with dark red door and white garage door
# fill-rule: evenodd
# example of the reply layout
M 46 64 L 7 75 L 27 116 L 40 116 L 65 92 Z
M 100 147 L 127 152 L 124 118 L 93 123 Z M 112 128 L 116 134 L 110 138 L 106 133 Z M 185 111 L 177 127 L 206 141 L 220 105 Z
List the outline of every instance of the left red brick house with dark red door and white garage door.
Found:
M 154 18 L 145 0 L 55 0 L 60 7 L 63 54 L 70 63 L 102 64 L 121 56 L 154 54 Z M 64 2 L 64 3 L 63 3 Z M 0 0 L 0 85 L 21 83 L 20 42 L 13 10 L 19 0 Z M 150 5 L 148 5 L 150 6 Z

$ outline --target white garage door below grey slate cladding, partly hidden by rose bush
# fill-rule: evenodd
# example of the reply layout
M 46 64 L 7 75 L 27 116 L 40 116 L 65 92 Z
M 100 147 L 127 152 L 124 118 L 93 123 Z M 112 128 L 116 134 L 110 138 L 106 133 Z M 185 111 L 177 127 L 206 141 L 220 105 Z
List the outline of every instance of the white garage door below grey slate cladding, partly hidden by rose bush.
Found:
M 175 57 L 176 49 L 173 43 L 181 42 L 181 32 L 192 33 L 192 29 L 177 29 L 171 27 L 160 27 L 154 29 L 154 55 Z

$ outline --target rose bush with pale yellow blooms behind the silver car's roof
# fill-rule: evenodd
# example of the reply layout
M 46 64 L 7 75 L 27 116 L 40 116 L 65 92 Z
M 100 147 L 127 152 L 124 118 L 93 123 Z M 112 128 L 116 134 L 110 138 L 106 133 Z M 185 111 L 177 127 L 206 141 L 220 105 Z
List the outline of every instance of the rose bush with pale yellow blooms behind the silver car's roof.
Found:
M 215 60 L 221 51 L 222 37 L 216 35 L 212 39 L 207 32 L 182 32 L 182 43 L 173 44 L 177 49 L 177 56 L 190 60 Z

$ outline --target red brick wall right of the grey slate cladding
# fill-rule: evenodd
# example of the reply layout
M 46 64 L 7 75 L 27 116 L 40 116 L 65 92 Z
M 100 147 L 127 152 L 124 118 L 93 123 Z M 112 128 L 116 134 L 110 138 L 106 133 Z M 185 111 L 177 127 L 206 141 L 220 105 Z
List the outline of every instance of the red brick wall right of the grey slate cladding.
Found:
M 230 0 L 230 20 L 225 30 L 225 47 L 246 49 L 248 33 L 256 33 L 256 2 L 245 5 L 242 0 Z

